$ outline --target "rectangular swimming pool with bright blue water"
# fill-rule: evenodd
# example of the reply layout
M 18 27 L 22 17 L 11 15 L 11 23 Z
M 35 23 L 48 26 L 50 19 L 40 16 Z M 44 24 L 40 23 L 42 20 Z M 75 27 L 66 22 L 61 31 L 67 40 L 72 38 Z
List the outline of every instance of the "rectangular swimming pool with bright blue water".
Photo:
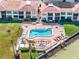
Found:
M 35 36 L 44 37 L 44 36 L 52 36 L 52 35 L 53 35 L 53 31 L 52 31 L 51 28 L 48 28 L 48 29 L 32 29 L 32 30 L 30 30 L 30 33 L 29 33 L 30 38 L 35 37 Z

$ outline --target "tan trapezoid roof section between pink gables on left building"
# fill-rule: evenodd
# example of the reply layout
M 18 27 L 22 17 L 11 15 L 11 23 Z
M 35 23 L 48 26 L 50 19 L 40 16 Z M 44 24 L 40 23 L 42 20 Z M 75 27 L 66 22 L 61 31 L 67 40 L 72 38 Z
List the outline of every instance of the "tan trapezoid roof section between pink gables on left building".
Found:
M 18 10 L 20 1 L 2 1 L 1 5 L 6 11 Z

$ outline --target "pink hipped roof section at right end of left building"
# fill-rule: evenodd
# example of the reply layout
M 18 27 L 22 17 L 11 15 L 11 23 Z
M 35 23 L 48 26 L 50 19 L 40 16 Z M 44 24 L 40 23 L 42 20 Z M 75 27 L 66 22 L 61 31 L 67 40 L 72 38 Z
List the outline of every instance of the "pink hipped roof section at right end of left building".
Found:
M 37 11 L 38 5 L 37 2 L 31 2 L 30 4 L 26 4 L 26 2 L 21 2 L 19 9 L 21 11 Z

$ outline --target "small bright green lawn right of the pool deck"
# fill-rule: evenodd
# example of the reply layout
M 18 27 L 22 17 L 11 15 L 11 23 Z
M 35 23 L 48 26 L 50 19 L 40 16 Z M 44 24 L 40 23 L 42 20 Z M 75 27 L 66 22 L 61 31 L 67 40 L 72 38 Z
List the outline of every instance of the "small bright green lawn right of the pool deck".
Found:
M 73 34 L 79 31 L 79 26 L 76 25 L 64 24 L 63 26 L 65 29 L 65 33 L 68 36 L 72 36 Z

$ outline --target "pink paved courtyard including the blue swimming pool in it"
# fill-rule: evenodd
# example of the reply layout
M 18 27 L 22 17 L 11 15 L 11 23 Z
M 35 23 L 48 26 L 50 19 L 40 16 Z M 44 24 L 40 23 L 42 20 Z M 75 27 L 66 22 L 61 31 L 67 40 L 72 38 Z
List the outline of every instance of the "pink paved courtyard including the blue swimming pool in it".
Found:
M 60 25 L 23 24 L 22 28 L 23 36 L 26 39 L 33 39 L 36 50 L 49 50 L 51 46 L 55 46 L 58 42 L 65 40 L 64 28 Z M 20 47 L 22 45 L 23 43 L 20 44 Z

